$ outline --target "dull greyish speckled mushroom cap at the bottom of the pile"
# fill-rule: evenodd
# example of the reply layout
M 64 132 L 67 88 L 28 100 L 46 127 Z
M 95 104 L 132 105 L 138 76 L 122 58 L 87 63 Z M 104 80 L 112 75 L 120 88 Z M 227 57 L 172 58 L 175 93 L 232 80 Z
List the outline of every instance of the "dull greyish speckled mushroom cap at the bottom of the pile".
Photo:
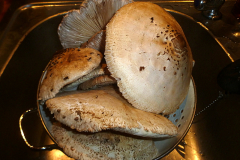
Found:
M 151 139 L 140 139 L 111 132 L 79 133 L 53 124 L 51 133 L 63 151 L 81 160 L 149 160 L 158 150 Z

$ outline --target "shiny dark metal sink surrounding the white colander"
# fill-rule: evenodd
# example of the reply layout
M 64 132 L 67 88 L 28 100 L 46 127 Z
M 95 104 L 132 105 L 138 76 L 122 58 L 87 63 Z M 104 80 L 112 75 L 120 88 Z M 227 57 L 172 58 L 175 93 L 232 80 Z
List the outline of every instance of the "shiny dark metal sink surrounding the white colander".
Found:
M 221 69 L 232 60 L 240 58 L 239 23 L 231 15 L 234 1 L 224 3 L 221 8 L 223 17 L 218 21 L 204 18 L 200 11 L 194 8 L 192 1 L 156 3 L 164 8 L 184 12 L 196 20 L 180 14 L 174 15 L 185 31 L 196 61 L 193 78 L 197 88 L 198 113 L 215 100 L 219 90 L 222 90 L 216 82 Z M 75 4 L 68 2 L 23 6 L 15 12 L 7 32 L 1 37 L 0 57 L 4 54 L 5 61 L 0 58 L 1 70 L 4 70 L 0 78 L 0 149 L 4 152 L 1 152 L 0 159 L 69 159 L 56 149 L 30 149 L 21 137 L 18 120 L 24 111 L 37 106 L 36 91 L 42 70 L 52 54 L 61 48 L 56 33 L 56 24 L 61 18 L 48 21 L 47 25 L 51 26 L 48 28 L 35 25 L 47 17 L 77 8 Z M 204 24 L 211 32 L 198 22 Z M 32 28 L 33 26 L 35 28 Z M 225 49 L 218 42 L 221 42 Z M 240 159 L 239 106 L 239 95 L 225 95 L 194 118 L 184 140 L 163 159 Z M 39 116 L 29 114 L 23 119 L 22 127 L 26 130 L 25 136 L 30 144 L 45 146 L 53 143 Z

